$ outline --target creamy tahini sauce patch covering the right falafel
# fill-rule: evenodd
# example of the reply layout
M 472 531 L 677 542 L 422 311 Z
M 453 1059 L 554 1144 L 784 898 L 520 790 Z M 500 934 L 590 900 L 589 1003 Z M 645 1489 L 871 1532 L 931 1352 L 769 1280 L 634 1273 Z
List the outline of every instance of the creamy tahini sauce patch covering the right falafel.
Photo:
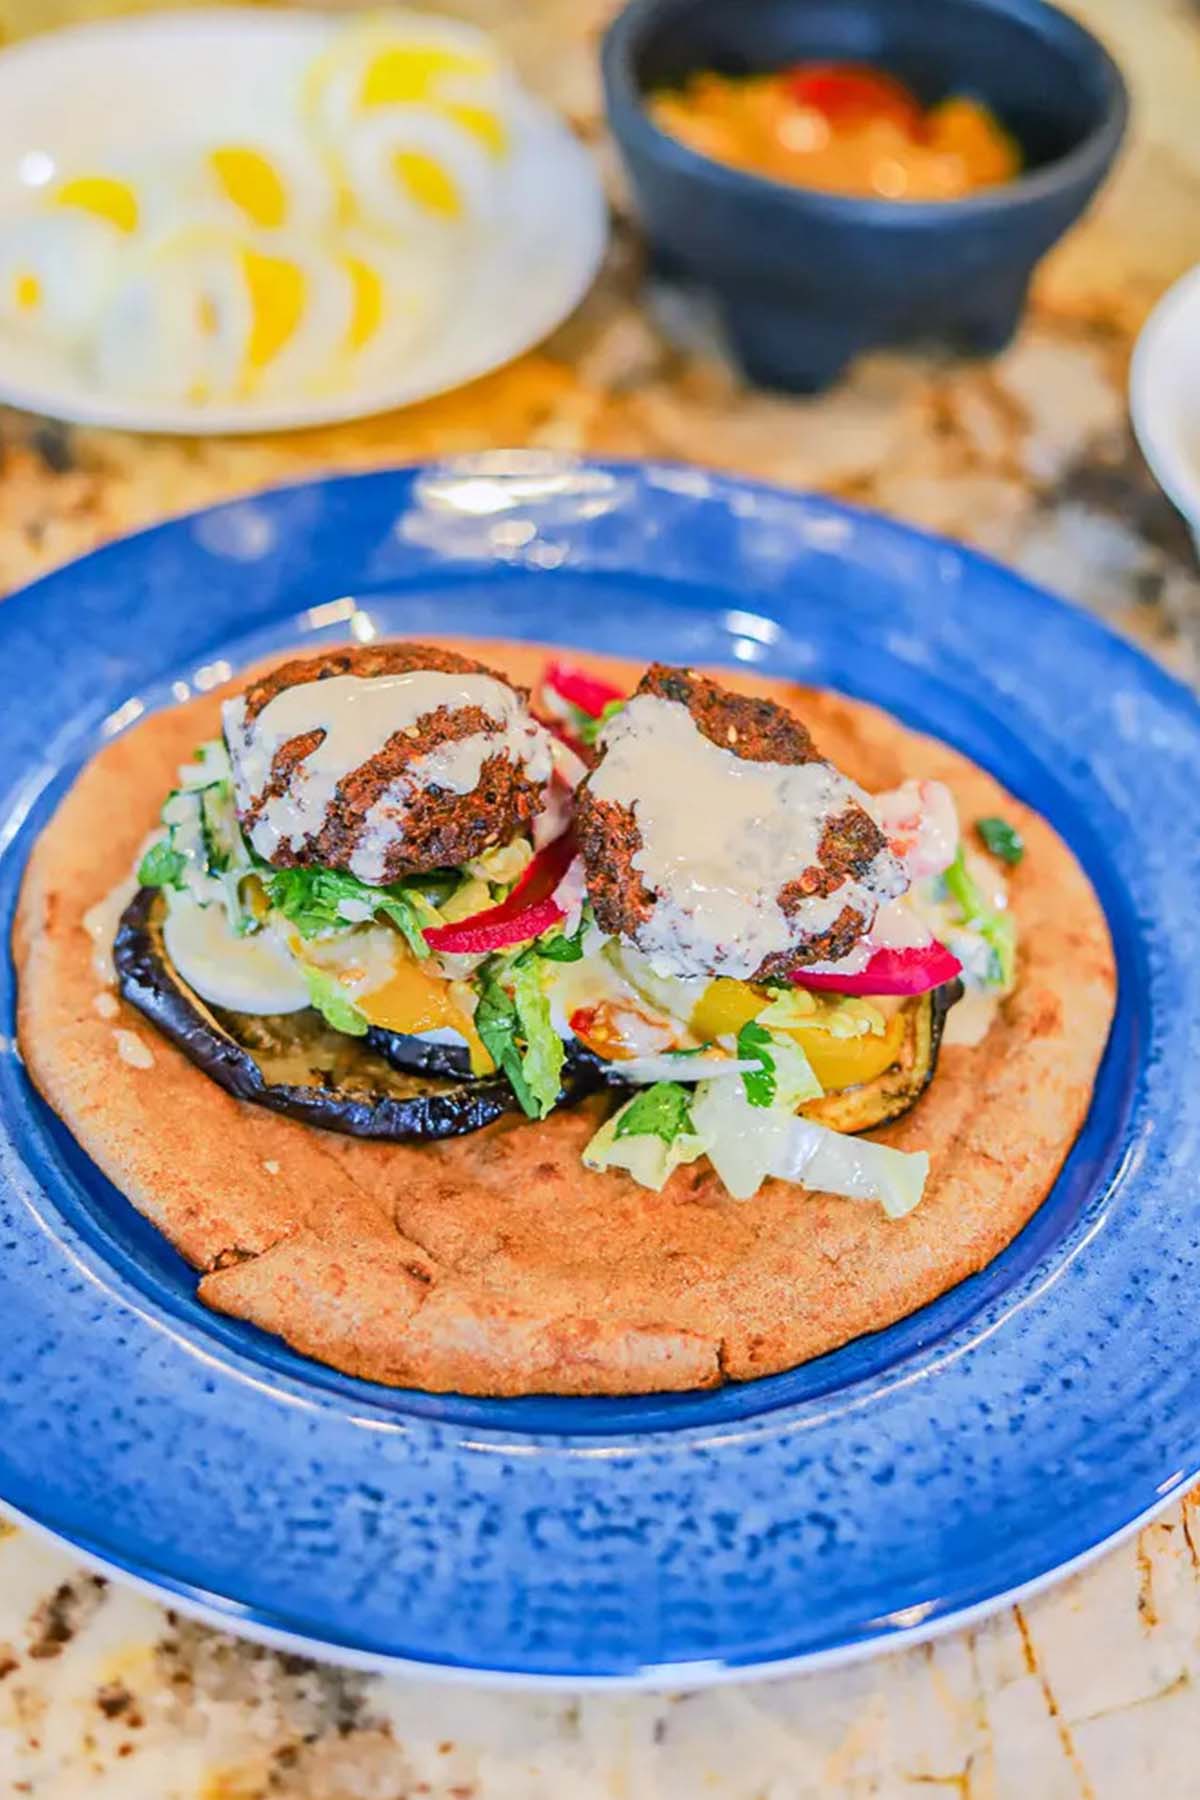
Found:
M 865 801 L 829 763 L 745 761 L 657 695 L 630 700 L 603 743 L 590 787 L 637 819 L 633 868 L 658 898 L 635 943 L 658 974 L 745 981 L 768 956 L 828 931 L 842 907 L 869 922 L 903 891 L 896 860 L 880 851 L 864 880 L 783 913 L 779 891 L 817 864 L 828 823 Z

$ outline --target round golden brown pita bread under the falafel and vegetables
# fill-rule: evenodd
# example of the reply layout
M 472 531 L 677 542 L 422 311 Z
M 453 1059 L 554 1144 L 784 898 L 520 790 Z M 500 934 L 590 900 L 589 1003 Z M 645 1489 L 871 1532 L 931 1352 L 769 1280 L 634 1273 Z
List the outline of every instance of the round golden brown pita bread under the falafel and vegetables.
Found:
M 466 646 L 531 682 L 542 650 Z M 588 657 L 633 686 L 640 668 Z M 191 1264 L 214 1309 L 374 1381 L 466 1393 L 644 1393 L 792 1368 L 925 1305 L 990 1262 L 1083 1123 L 1114 1004 L 1108 931 L 1054 832 L 988 774 L 873 707 L 721 675 L 795 706 L 869 788 L 950 783 L 964 821 L 1024 833 L 1011 877 L 1020 983 L 988 1039 L 946 1048 L 930 1093 L 878 1136 L 930 1152 L 921 1206 L 770 1183 L 730 1201 L 707 1163 L 664 1193 L 579 1163 L 597 1102 L 441 1145 L 311 1130 L 232 1100 L 133 1010 L 103 1017 L 83 914 L 130 869 L 219 695 L 155 715 L 83 770 L 38 842 L 14 956 L 20 1042 L 83 1148 Z M 106 1001 L 101 1001 L 106 1008 Z M 110 1010 L 110 1008 L 108 1008 Z M 153 1057 L 121 1055 L 133 1033 Z M 139 1060 L 144 1060 L 140 1053 Z

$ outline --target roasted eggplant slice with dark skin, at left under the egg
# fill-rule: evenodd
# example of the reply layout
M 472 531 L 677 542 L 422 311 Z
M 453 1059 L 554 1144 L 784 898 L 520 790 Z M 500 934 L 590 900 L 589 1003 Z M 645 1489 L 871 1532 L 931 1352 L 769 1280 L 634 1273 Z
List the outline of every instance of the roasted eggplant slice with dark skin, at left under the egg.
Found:
M 237 1100 L 306 1125 L 432 1143 L 480 1130 L 518 1109 L 500 1075 L 446 1080 L 398 1066 L 392 1046 L 380 1042 L 392 1035 L 387 1031 L 358 1039 L 333 1031 L 311 1010 L 259 1017 L 207 1006 L 166 954 L 158 889 L 142 887 L 126 907 L 113 961 L 122 995 L 196 1067 Z

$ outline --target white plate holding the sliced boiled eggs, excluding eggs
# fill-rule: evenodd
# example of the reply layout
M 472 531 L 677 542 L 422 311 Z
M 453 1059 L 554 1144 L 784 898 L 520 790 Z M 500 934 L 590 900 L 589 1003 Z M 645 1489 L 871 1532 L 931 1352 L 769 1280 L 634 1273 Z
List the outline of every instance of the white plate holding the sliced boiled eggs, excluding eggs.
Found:
M 254 133 L 286 104 L 302 70 L 340 29 L 345 14 L 228 7 L 81 25 L 4 50 L 0 214 L 27 205 L 29 171 L 40 157 L 86 167 L 103 155 L 144 153 L 178 139 L 182 121 L 214 139 Z M 410 405 L 511 362 L 579 302 L 608 230 L 592 160 L 563 121 L 520 95 L 511 126 L 509 202 L 473 245 L 452 290 L 453 306 L 383 380 L 376 369 L 320 400 L 255 398 L 200 409 L 115 394 L 67 355 L 34 353 L 0 333 L 0 400 L 130 430 L 293 430 Z

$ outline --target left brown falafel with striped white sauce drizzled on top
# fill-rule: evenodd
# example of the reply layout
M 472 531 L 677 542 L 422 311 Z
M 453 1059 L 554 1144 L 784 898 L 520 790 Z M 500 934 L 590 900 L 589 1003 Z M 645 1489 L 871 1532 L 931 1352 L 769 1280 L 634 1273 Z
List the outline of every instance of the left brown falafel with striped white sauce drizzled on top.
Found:
M 225 704 L 223 725 L 254 850 L 275 868 L 347 869 L 372 886 L 511 842 L 551 779 L 527 689 L 435 644 L 284 662 Z

